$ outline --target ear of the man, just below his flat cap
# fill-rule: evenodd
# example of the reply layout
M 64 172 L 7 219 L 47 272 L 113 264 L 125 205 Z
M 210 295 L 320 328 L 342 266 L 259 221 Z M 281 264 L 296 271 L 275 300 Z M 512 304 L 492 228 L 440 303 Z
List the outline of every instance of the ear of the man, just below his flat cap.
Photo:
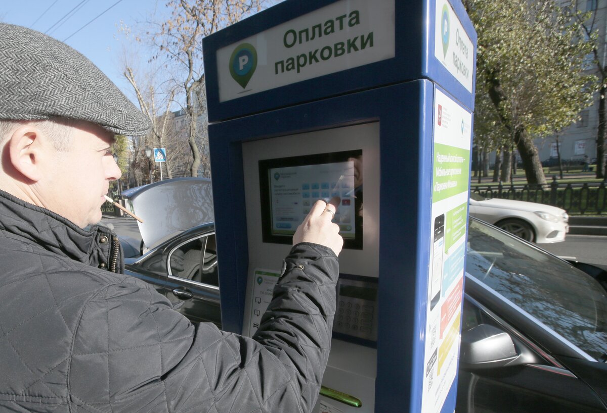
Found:
M 13 168 L 33 182 L 42 177 L 41 160 L 47 156 L 44 140 L 44 134 L 33 125 L 19 127 L 8 139 L 8 156 Z

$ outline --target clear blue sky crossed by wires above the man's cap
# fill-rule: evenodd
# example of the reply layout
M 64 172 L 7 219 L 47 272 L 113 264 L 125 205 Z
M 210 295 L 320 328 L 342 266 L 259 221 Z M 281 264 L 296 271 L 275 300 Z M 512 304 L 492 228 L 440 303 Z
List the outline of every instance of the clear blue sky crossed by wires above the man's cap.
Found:
M 118 33 L 118 27 L 121 21 L 133 26 L 149 20 L 152 15 L 157 18 L 166 15 L 164 1 L 2 0 L 1 4 L 0 21 L 47 32 L 47 35 L 60 41 L 71 36 L 65 42 L 89 58 L 137 105 L 131 85 L 122 75 L 121 63 L 123 50 L 126 48 L 130 56 L 135 56 L 132 52 L 137 45 L 132 45 L 132 41 Z M 99 16 L 107 8 L 110 9 Z M 72 10 L 66 19 L 61 20 Z M 97 16 L 95 21 L 90 22 Z M 84 25 L 86 27 L 74 34 Z M 139 63 L 145 64 L 146 61 L 146 56 L 142 54 Z

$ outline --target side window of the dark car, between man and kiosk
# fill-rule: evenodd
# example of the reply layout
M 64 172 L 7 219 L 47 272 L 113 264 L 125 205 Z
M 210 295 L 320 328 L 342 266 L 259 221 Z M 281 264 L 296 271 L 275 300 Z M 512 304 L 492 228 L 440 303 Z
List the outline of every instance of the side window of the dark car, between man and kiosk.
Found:
M 219 286 L 215 245 L 215 234 L 181 244 L 169 255 L 169 275 Z

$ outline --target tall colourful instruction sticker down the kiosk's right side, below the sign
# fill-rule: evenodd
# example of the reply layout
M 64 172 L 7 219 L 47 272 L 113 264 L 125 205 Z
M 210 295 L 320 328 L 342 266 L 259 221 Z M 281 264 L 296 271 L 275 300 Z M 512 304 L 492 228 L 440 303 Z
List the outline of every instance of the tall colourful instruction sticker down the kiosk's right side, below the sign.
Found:
M 435 90 L 433 122 L 432 239 L 429 240 L 422 413 L 441 411 L 457 375 L 472 114 L 447 94 Z

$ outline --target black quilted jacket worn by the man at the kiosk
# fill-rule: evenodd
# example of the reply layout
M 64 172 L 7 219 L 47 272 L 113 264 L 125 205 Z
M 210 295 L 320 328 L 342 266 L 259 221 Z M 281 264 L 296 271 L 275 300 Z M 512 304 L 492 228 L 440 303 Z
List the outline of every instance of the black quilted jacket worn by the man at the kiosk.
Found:
M 119 252 L 107 228 L 0 191 L 0 411 L 311 411 L 335 311 L 330 249 L 291 249 L 254 340 L 190 323 L 120 274 Z

